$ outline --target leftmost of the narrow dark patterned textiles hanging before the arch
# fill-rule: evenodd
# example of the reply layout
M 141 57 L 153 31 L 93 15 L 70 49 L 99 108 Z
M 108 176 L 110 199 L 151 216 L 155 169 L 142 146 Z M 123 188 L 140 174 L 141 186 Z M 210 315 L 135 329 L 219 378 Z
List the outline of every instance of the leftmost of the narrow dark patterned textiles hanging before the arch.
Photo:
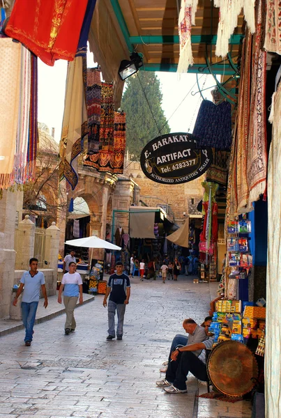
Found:
M 87 113 L 88 113 L 88 154 L 98 154 L 100 147 L 100 69 L 88 68 L 87 72 Z

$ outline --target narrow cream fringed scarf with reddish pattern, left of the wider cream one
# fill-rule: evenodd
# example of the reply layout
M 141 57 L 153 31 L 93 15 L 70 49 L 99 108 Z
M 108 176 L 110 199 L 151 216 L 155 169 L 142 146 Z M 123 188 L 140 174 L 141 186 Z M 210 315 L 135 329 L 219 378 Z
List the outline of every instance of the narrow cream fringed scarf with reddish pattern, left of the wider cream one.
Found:
M 193 65 L 191 46 L 191 26 L 195 25 L 195 13 L 198 0 L 181 0 L 179 13 L 179 38 L 180 55 L 177 72 L 188 72 L 188 67 Z

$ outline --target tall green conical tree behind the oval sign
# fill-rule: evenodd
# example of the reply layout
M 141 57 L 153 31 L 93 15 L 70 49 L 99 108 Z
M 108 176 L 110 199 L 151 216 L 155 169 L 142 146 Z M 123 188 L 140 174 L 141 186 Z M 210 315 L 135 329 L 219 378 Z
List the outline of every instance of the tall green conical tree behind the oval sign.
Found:
M 151 139 L 171 131 L 162 109 L 160 80 L 155 72 L 139 71 L 126 80 L 121 109 L 126 112 L 127 148 L 135 160 L 139 160 Z

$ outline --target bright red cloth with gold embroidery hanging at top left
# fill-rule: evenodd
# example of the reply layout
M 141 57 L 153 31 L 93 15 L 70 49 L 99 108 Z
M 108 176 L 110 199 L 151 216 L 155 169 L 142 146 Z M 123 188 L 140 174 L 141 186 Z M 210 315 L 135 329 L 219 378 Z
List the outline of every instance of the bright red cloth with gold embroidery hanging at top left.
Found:
M 15 0 L 6 35 L 26 45 L 47 65 L 73 61 L 88 0 Z

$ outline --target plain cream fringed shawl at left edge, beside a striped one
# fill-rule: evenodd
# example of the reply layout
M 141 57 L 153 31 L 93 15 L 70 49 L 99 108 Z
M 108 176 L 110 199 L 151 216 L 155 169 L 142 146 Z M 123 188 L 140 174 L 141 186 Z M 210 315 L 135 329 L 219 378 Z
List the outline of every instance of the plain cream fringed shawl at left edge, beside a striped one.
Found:
M 0 188 L 10 186 L 20 105 L 22 49 L 8 38 L 0 39 Z

